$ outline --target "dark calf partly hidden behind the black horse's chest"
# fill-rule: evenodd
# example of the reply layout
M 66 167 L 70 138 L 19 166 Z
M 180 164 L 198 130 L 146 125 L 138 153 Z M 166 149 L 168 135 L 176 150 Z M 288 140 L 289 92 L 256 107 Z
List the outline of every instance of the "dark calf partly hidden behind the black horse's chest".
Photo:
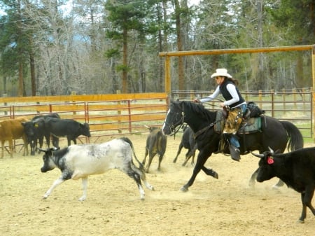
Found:
M 192 158 L 191 165 L 194 165 L 197 144 L 195 141 L 194 132 L 193 130 L 191 130 L 189 126 L 186 126 L 184 128 L 183 137 L 181 137 L 181 143 L 179 144 L 179 151 L 177 151 L 176 158 L 174 158 L 173 160 L 174 163 L 176 163 L 176 160 L 179 157 L 179 154 L 181 153 L 182 148 L 188 149 L 186 153 L 186 159 L 183 162 L 183 166 L 186 165 L 186 163 L 188 162 L 190 158 Z

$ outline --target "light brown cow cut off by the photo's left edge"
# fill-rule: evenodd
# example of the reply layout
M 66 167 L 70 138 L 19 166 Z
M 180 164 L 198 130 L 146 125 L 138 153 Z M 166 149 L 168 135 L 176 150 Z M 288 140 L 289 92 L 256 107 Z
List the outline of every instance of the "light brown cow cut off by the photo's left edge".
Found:
M 9 142 L 10 157 L 13 158 L 13 139 L 23 139 L 24 142 L 24 154 L 29 155 L 29 148 L 27 146 L 27 137 L 24 132 L 22 122 L 29 121 L 27 118 L 21 116 L 16 119 L 8 119 L 0 121 L 0 140 L 1 140 L 1 158 L 3 158 L 4 143 Z

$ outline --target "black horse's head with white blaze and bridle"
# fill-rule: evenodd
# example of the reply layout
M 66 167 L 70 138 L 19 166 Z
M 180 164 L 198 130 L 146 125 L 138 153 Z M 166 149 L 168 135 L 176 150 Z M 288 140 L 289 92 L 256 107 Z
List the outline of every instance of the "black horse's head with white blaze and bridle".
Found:
M 170 135 L 176 132 L 176 127 L 183 124 L 184 112 L 181 106 L 181 102 L 171 102 L 169 106 L 169 111 L 167 111 L 167 116 L 165 122 L 162 126 L 162 132 L 165 135 Z

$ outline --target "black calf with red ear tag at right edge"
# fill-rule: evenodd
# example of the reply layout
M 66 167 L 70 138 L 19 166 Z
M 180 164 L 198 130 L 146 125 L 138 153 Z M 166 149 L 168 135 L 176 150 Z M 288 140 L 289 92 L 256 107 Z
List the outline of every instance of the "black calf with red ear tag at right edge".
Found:
M 260 158 L 258 182 L 278 177 L 289 188 L 301 193 L 302 214 L 300 223 L 304 223 L 307 207 L 315 215 L 311 199 L 315 190 L 315 147 L 300 148 L 290 153 L 274 154 L 271 148 L 261 154 L 253 154 Z

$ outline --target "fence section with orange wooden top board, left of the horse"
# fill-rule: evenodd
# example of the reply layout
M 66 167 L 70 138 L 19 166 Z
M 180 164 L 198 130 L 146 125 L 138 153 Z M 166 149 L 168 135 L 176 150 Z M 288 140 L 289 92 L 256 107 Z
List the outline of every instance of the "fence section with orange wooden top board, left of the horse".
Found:
M 145 125 L 162 126 L 168 97 L 165 93 L 1 97 L 0 104 L 0 120 L 54 112 L 89 123 L 92 137 L 85 142 L 95 142 L 102 136 L 148 132 Z

